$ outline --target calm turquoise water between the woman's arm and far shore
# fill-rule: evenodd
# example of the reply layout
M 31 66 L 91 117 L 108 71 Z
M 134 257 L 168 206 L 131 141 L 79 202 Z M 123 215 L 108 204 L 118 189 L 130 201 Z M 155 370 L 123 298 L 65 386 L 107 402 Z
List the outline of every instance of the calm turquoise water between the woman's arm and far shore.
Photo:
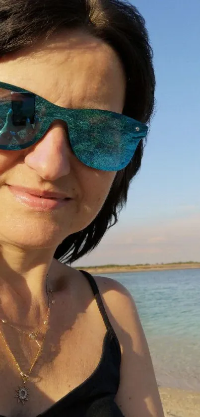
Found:
M 200 391 L 200 269 L 105 275 L 133 295 L 158 385 Z

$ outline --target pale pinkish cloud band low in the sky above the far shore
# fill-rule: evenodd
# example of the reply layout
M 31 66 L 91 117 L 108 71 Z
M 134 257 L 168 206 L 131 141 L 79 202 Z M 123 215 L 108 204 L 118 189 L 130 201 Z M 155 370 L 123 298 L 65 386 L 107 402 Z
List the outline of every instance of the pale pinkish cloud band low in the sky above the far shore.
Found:
M 76 264 L 200 260 L 200 213 L 152 224 L 114 226 L 99 247 Z

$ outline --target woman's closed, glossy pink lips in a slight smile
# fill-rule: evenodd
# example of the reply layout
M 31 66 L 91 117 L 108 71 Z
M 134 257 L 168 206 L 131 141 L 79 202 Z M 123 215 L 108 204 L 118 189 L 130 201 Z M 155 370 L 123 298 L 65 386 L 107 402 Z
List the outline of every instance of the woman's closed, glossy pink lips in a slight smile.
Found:
M 32 195 L 25 192 L 24 189 L 19 189 L 19 187 L 15 188 L 12 185 L 8 185 L 8 188 L 19 203 L 32 207 L 37 211 L 49 211 L 61 207 L 66 207 L 68 202 L 71 200 L 70 198 L 61 199 L 52 197 L 38 197 L 37 195 Z

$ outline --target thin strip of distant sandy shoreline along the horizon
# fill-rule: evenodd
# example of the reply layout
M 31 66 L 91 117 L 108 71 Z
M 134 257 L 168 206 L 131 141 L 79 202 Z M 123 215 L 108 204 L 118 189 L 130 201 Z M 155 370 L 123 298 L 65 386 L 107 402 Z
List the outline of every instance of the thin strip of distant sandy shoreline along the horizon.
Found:
M 126 272 L 146 272 L 163 271 L 170 269 L 200 269 L 200 262 L 189 263 L 170 263 L 154 265 L 102 265 L 102 266 L 76 266 L 76 269 L 83 269 L 92 274 L 126 273 Z

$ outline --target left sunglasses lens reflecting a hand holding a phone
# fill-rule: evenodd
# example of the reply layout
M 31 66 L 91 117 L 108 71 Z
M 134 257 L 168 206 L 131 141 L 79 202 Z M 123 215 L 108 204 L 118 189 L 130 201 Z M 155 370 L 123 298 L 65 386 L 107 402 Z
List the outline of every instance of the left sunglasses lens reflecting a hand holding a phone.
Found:
M 0 88 L 0 148 L 17 150 L 32 143 L 43 124 L 35 94 Z

